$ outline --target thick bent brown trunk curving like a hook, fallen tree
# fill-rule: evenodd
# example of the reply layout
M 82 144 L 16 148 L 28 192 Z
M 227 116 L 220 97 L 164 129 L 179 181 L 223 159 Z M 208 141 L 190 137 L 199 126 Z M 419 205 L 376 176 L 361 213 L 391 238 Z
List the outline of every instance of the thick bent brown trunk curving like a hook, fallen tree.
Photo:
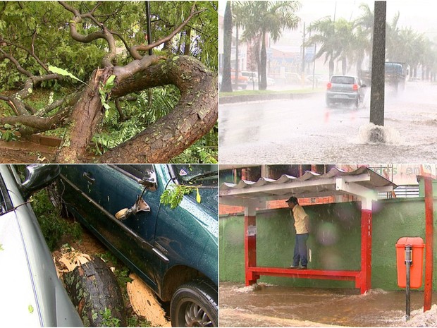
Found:
M 173 111 L 103 154 L 99 162 L 167 163 L 214 127 L 219 109 L 216 74 L 190 57 L 174 57 L 126 78 L 113 88 L 111 97 L 168 84 L 180 90 Z

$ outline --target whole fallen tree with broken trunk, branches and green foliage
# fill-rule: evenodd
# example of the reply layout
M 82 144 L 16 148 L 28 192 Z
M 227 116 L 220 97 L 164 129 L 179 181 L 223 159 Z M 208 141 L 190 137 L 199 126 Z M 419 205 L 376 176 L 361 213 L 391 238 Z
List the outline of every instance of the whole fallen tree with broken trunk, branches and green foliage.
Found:
M 0 80 L 18 86 L 0 92 L 12 113 L 0 117 L 0 125 L 16 127 L 22 138 L 68 125 L 55 160 L 86 162 L 87 147 L 109 111 L 123 121 L 126 99 L 173 85 L 180 93 L 174 108 L 97 161 L 168 162 L 209 133 L 218 116 L 211 69 L 216 65 L 216 28 L 211 28 L 216 3 L 166 1 L 151 8 L 156 41 L 148 42 L 144 2 L 0 4 Z M 202 36 L 209 31 L 212 35 Z M 199 56 L 214 63 L 206 65 Z M 68 94 L 58 99 L 38 105 L 28 101 L 36 87 L 65 84 Z

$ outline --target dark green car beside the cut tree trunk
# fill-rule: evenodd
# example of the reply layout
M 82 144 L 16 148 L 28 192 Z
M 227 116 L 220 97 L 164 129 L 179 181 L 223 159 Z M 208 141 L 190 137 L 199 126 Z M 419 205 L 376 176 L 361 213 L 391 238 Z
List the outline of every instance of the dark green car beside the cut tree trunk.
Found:
M 63 202 L 159 298 L 173 327 L 218 324 L 218 167 L 61 166 Z

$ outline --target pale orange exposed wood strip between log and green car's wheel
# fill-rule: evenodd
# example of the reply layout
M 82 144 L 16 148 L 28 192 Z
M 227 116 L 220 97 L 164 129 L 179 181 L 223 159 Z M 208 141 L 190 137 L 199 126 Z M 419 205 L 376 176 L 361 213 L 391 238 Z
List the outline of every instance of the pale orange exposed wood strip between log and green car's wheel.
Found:
M 135 313 L 146 317 L 152 327 L 171 327 L 171 322 L 166 320 L 165 312 L 152 289 L 136 274 L 130 274 L 129 277 L 133 281 L 128 283 L 128 294 Z

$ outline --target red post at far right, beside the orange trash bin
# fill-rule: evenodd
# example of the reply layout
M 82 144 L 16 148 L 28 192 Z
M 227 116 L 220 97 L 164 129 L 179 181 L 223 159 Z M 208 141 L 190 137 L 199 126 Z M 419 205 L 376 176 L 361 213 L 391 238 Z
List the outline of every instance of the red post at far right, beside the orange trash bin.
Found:
M 425 187 L 425 287 L 424 287 L 424 312 L 431 310 L 433 291 L 433 184 L 429 177 L 424 178 Z

